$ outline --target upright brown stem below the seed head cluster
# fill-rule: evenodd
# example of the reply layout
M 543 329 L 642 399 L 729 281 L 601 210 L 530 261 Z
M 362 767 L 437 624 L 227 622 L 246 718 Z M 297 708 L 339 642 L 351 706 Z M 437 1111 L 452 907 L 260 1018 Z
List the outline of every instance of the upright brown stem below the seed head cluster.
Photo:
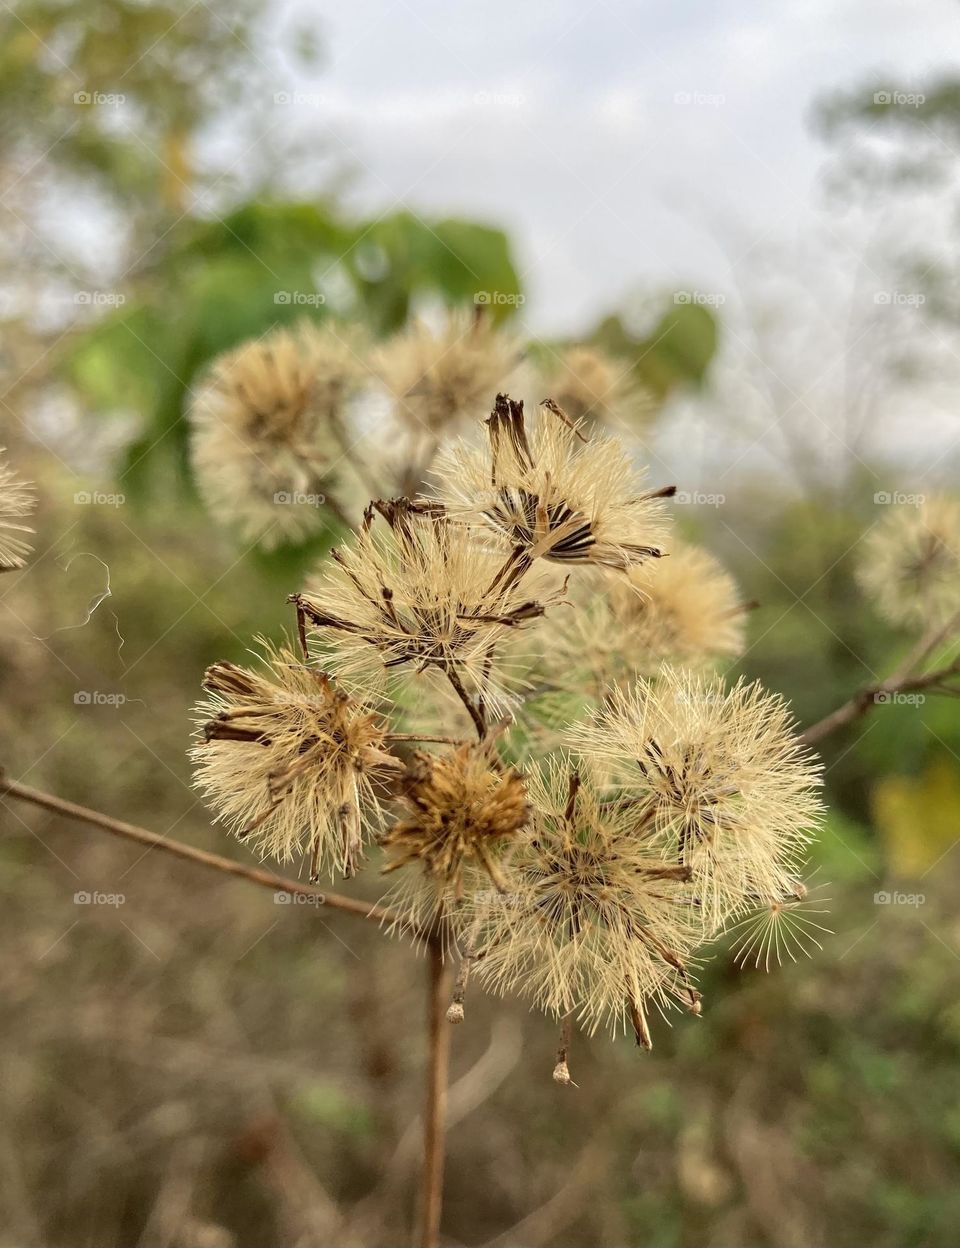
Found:
M 449 1072 L 449 1023 L 447 1022 L 449 990 L 449 962 L 444 963 L 442 941 L 434 935 L 429 945 L 427 1006 L 429 1060 L 427 1062 L 427 1101 L 423 1108 L 423 1191 L 419 1248 L 437 1248 L 439 1244 Z

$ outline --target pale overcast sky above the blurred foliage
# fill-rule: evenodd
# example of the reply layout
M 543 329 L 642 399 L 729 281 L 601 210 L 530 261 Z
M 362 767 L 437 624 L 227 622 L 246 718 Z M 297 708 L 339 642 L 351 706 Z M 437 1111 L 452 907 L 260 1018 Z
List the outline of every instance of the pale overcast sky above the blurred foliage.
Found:
M 507 227 L 541 333 L 638 288 L 723 293 L 745 253 L 835 231 L 813 101 L 960 64 L 948 0 L 293 0 L 277 32 L 317 14 L 291 125 L 366 211 Z

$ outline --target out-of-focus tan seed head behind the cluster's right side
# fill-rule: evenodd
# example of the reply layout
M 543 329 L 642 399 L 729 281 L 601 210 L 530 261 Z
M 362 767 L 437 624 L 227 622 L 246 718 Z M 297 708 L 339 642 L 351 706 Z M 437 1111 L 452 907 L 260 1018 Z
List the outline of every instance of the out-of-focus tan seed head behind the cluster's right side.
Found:
M 561 688 L 599 693 L 654 675 L 665 661 L 707 666 L 743 651 L 748 607 L 700 547 L 674 547 L 625 575 L 600 574 L 574 587 L 571 602 L 544 625 L 544 666 Z

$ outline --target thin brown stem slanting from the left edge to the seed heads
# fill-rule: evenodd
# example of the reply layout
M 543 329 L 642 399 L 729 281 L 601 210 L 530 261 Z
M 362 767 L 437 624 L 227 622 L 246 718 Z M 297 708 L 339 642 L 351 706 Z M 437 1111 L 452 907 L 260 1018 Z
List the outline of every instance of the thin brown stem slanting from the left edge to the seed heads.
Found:
M 0 795 L 15 797 L 17 801 L 26 801 L 34 806 L 40 806 L 55 815 L 65 819 L 75 819 L 81 824 L 90 824 L 91 827 L 100 827 L 114 836 L 122 836 L 125 840 L 136 841 L 137 845 L 146 845 L 149 849 L 162 850 L 175 857 L 186 859 L 198 866 L 211 867 L 226 875 L 236 875 L 251 884 L 258 884 L 263 889 L 272 889 L 275 892 L 287 892 L 291 896 L 316 897 L 318 906 L 325 910 L 341 910 L 343 914 L 355 915 L 358 919 L 372 919 L 378 924 L 396 924 L 401 916 L 384 906 L 371 905 L 368 901 L 357 901 L 353 897 L 343 897 L 337 892 L 313 889 L 298 880 L 288 880 L 286 876 L 275 875 L 272 871 L 263 871 L 261 867 L 246 866 L 235 862 L 232 859 L 221 857 L 207 850 L 195 849 L 192 845 L 184 845 L 181 841 L 160 836 L 157 832 L 147 831 L 146 827 L 137 827 L 135 824 L 125 824 L 110 815 L 104 815 L 99 810 L 90 810 L 87 806 L 79 806 L 74 801 L 65 801 L 52 794 L 42 792 L 40 789 L 31 789 L 27 785 L 17 784 L 16 780 L 7 780 L 0 775 Z

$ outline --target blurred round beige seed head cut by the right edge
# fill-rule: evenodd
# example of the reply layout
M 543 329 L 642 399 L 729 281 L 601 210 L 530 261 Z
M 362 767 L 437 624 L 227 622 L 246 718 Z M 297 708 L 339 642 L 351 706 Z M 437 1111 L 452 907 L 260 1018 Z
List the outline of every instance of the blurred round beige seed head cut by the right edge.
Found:
M 960 499 L 891 507 L 864 540 L 858 578 L 893 624 L 945 624 L 960 612 Z

